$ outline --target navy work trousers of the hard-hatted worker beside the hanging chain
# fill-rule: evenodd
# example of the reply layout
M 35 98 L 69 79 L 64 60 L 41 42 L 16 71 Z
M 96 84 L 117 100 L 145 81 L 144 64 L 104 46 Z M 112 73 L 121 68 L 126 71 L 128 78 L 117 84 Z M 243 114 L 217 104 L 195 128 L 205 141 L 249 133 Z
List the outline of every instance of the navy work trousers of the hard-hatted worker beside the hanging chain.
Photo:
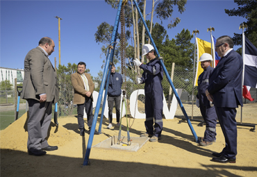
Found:
M 160 137 L 163 131 L 163 95 L 145 94 L 144 110 L 147 133 Z

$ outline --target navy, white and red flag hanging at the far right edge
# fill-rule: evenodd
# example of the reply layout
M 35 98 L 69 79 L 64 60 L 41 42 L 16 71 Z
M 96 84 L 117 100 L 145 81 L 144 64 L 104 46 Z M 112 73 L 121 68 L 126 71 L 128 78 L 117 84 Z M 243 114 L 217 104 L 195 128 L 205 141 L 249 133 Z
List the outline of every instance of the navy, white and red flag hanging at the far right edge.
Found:
M 257 49 L 254 44 L 245 38 L 244 52 L 244 88 L 242 96 L 249 101 L 254 101 L 249 92 L 251 87 L 257 88 Z

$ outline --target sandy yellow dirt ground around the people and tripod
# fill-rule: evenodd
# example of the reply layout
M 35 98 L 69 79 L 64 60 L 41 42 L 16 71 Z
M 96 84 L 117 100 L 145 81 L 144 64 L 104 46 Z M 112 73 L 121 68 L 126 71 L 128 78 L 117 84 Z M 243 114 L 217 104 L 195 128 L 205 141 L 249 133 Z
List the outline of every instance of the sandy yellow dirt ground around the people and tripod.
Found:
M 244 124 L 257 124 L 257 104 L 244 106 Z M 90 165 L 83 166 L 88 134 L 81 137 L 76 117 L 59 117 L 59 126 L 53 122 L 49 130 L 49 144 L 58 146 L 47 155 L 28 155 L 26 142 L 27 115 L 23 115 L 5 130 L 1 130 L 1 175 L 5 176 L 257 176 L 257 134 L 249 126 L 238 126 L 238 155 L 235 164 L 210 161 L 211 153 L 224 148 L 224 136 L 217 124 L 217 141 L 211 146 L 199 146 L 187 123 L 178 118 L 163 119 L 163 139 L 147 142 L 137 152 L 96 149 L 90 151 Z M 240 109 L 237 121 L 240 122 Z M 86 120 L 85 120 L 86 121 Z M 115 119 L 114 119 L 115 122 Z M 129 119 L 131 137 L 144 133 L 144 119 Z M 205 126 L 191 121 L 198 136 L 204 135 Z M 122 119 L 126 124 L 126 118 Z M 103 118 L 101 135 L 94 135 L 92 146 L 108 137 L 118 135 L 119 128 L 107 129 Z M 86 126 L 87 128 L 87 126 Z M 99 119 L 96 129 L 99 128 Z M 126 136 L 126 127 L 122 128 Z

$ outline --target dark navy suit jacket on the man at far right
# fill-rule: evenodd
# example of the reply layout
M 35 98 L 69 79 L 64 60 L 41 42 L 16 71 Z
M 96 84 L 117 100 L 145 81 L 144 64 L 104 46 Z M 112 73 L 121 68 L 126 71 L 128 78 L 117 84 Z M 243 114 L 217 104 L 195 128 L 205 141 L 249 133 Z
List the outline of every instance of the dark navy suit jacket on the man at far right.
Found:
M 216 107 L 238 108 L 242 106 L 242 58 L 234 50 L 222 57 L 212 74 L 208 92 L 213 95 Z

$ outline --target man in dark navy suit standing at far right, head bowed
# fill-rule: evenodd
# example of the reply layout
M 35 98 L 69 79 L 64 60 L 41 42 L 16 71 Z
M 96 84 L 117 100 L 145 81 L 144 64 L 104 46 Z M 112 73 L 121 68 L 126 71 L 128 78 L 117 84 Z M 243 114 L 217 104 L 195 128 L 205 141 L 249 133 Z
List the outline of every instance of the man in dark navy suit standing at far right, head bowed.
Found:
M 222 152 L 213 153 L 217 158 L 212 161 L 235 163 L 238 136 L 235 108 L 242 106 L 243 63 L 241 56 L 233 50 L 233 40 L 227 35 L 217 39 L 215 50 L 221 59 L 210 75 L 206 96 L 215 105 L 226 146 Z

